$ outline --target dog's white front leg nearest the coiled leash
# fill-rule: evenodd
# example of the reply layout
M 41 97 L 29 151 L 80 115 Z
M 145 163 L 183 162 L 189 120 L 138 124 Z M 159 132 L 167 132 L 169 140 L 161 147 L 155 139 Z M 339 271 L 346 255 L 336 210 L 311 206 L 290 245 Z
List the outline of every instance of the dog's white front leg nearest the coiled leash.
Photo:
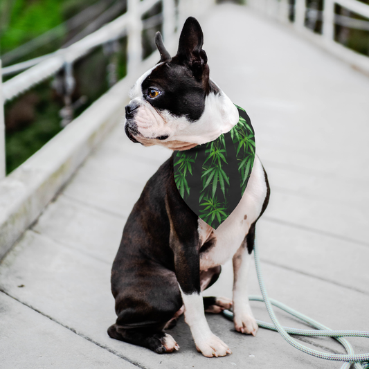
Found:
M 245 334 L 256 335 L 258 323 L 256 323 L 249 303 L 248 279 L 252 260 L 253 242 L 255 237 L 255 225 L 242 242 L 240 249 L 233 256 L 233 322 L 235 330 Z

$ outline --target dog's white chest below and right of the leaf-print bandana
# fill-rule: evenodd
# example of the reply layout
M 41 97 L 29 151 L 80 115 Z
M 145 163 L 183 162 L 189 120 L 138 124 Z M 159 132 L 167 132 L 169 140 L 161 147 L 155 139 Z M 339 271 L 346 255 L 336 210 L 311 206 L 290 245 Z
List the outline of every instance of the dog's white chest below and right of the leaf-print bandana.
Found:
M 201 270 L 224 264 L 233 257 L 244 242 L 244 237 L 249 233 L 251 224 L 258 219 L 266 196 L 267 184 L 264 170 L 258 156 L 255 156 L 244 195 L 231 215 L 217 229 L 199 218 Z

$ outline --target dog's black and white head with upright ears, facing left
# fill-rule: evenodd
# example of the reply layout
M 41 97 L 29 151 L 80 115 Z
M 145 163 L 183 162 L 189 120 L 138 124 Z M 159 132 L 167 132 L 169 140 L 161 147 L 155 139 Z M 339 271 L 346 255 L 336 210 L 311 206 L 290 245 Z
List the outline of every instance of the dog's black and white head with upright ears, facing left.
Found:
M 193 17 L 183 26 L 174 57 L 156 33 L 161 60 L 138 78 L 125 107 L 125 132 L 132 141 L 188 150 L 213 141 L 237 123 L 237 108 L 209 78 L 203 42 Z

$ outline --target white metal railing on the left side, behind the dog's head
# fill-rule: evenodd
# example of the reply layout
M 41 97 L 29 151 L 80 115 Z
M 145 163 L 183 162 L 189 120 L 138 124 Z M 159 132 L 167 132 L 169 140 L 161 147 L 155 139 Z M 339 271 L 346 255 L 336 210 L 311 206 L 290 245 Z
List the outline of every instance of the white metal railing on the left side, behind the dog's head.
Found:
M 162 13 L 143 20 L 143 15 L 159 2 L 162 4 Z M 21 93 L 25 93 L 33 86 L 46 80 L 46 78 L 64 70 L 64 88 L 66 89 L 64 103 L 66 106 L 63 109 L 67 116 L 66 120 L 68 120 L 68 112 L 71 109 L 71 93 L 75 84 L 73 78 L 74 62 L 98 46 L 114 43 L 117 39 L 127 36 L 126 76 L 132 75 L 143 62 L 143 46 L 141 42 L 143 30 L 156 24 L 162 24 L 163 39 L 165 42 L 168 42 L 179 27 L 179 24 L 182 24 L 188 15 L 198 15 L 214 3 L 215 0 L 201 0 L 201 2 L 196 2 L 195 0 L 127 0 L 127 12 L 124 15 L 102 26 L 102 28 L 80 39 L 80 41 L 75 42 L 71 46 L 35 60 L 6 67 L 6 73 L 15 73 L 26 68 L 28 69 L 6 82 L 1 83 L 0 80 L 0 179 L 6 175 L 3 104 L 21 95 Z M 0 78 L 1 75 L 0 61 Z

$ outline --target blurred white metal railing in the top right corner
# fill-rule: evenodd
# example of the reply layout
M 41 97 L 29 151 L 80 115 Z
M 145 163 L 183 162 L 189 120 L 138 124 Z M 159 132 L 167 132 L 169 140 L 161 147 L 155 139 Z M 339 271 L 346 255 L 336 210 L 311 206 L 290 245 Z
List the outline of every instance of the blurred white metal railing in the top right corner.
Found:
M 308 8 L 306 0 L 247 0 L 246 3 L 257 12 L 285 24 L 291 23 L 291 15 L 293 15 L 292 24 L 298 32 L 303 33 L 341 60 L 369 74 L 369 57 L 336 42 L 334 31 L 336 25 L 369 30 L 369 5 L 366 3 L 357 0 L 323 0 L 323 10 Z M 368 21 L 338 15 L 335 13 L 336 5 L 345 8 L 348 12 L 368 18 Z M 309 19 L 323 22 L 321 34 L 309 29 Z

